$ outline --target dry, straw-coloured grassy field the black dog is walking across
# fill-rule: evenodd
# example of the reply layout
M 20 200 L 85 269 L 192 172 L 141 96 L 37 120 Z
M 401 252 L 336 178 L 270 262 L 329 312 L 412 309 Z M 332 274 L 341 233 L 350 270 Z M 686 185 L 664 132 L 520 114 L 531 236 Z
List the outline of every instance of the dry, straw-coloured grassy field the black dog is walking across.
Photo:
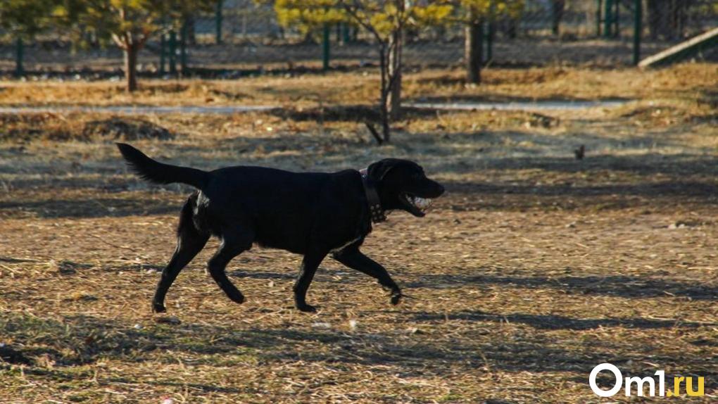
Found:
M 0 115 L 0 403 L 600 403 L 587 380 L 601 362 L 624 376 L 704 376 L 706 395 L 680 401 L 715 403 L 718 67 L 487 70 L 477 88 L 460 77 L 409 74 L 405 95 L 631 102 L 410 111 L 378 147 L 345 108 L 371 103 L 370 73 L 144 81 L 136 95 L 0 83 L 1 105 L 285 107 Z M 238 306 L 203 271 L 212 241 L 170 289 L 168 313 L 151 314 L 189 189 L 133 177 L 117 140 L 207 169 L 409 158 L 448 193 L 424 219 L 393 213 L 365 243 L 412 296 L 399 306 L 326 260 L 309 289 L 320 310 L 300 313 L 299 258 L 257 247 L 228 266 L 248 299 Z

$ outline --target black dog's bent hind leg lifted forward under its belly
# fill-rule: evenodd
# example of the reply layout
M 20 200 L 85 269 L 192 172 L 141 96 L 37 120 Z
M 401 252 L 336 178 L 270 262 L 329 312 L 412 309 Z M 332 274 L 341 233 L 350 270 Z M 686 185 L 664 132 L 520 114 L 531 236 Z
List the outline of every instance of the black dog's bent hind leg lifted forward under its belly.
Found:
M 207 265 L 208 271 L 217 285 L 230 300 L 238 304 L 244 303 L 244 295 L 227 278 L 225 268 L 232 258 L 251 248 L 253 238 L 253 234 L 248 231 L 223 232 L 222 244 Z

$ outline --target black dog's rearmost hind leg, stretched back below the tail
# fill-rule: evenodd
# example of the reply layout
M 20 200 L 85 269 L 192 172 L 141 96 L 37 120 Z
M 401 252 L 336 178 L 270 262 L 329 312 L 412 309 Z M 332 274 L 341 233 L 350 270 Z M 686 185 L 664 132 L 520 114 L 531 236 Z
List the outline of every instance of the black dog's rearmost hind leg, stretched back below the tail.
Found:
M 157 291 L 154 292 L 154 298 L 152 299 L 152 311 L 156 313 L 166 311 L 164 308 L 164 296 L 167 295 L 169 286 L 172 286 L 177 274 L 190 263 L 192 258 L 195 258 L 195 255 L 205 247 L 207 240 L 210 238 L 208 234 L 202 234 L 202 232 L 198 231 L 192 222 L 192 210 L 196 199 L 197 195 L 192 195 L 185 203 L 185 206 L 182 207 L 182 212 L 180 212 L 180 225 L 177 226 L 177 248 L 175 248 L 167 267 L 162 270 L 162 277 L 159 278 Z

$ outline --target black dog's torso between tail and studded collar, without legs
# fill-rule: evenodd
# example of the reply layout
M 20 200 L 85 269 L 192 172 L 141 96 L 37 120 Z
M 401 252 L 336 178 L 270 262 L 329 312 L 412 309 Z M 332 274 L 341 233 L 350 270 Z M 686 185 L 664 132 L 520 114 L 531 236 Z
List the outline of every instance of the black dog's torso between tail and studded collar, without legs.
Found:
M 347 201 L 360 200 L 360 195 L 343 185 L 351 181 L 350 176 L 358 182 L 355 189 L 361 189 L 360 177 L 353 170 L 328 174 L 256 166 L 218 169 L 210 172 L 200 193 L 200 214 L 206 210 L 215 225 L 236 223 L 250 228 L 260 245 L 304 253 L 318 218 L 341 227 L 340 214 L 351 205 Z

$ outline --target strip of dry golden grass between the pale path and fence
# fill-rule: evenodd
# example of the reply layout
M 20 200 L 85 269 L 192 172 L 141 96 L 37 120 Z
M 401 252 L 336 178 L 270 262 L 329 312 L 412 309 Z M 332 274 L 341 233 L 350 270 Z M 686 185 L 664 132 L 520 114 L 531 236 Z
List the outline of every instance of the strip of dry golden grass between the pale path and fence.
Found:
M 715 98 L 718 67 L 710 63 L 679 65 L 668 70 L 634 68 L 541 67 L 488 69 L 484 83 L 466 86 L 461 70 L 407 72 L 404 95 L 409 100 L 684 99 Z M 127 94 L 108 82 L 3 83 L 0 105 L 279 105 L 323 106 L 366 104 L 378 99 L 375 69 L 331 75 L 260 76 L 238 80 L 142 80 Z M 715 106 L 715 105 L 714 105 Z

